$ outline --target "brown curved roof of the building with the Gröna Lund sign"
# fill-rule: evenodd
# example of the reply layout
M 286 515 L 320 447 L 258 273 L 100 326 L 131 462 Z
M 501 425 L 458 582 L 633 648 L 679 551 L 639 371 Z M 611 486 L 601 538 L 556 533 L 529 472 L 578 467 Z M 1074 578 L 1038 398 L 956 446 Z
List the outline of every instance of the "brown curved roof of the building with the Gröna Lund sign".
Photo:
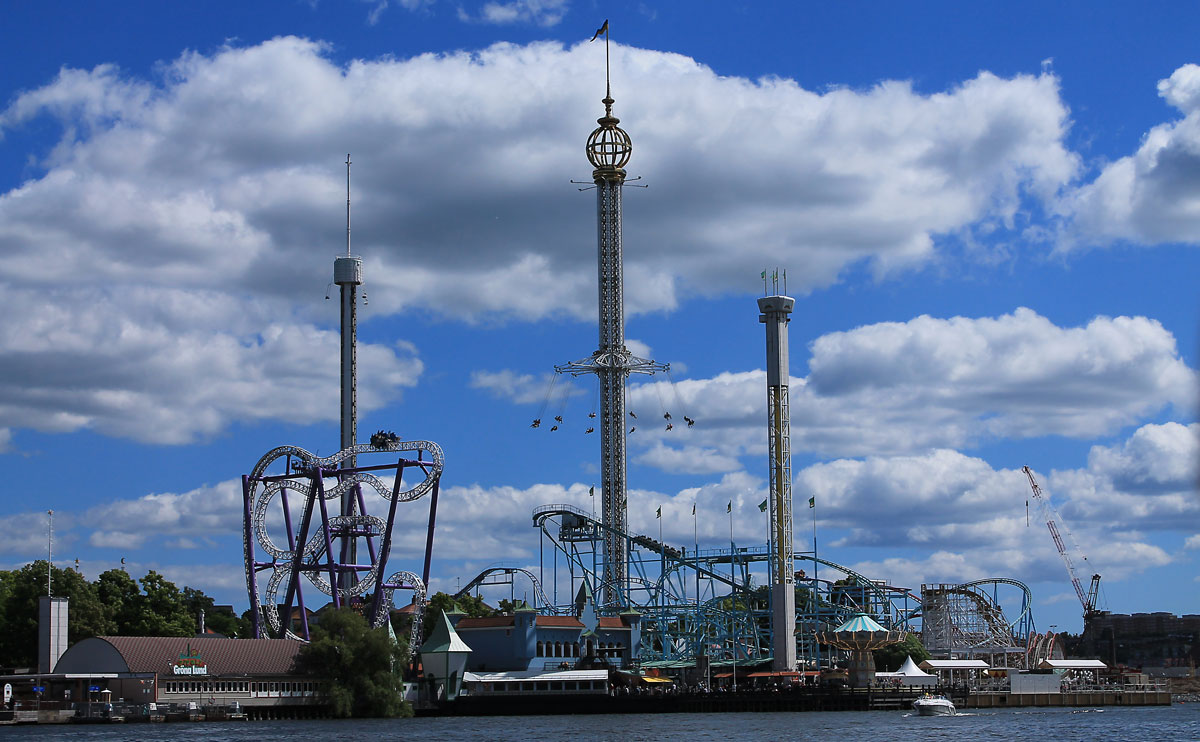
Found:
M 288 675 L 304 645 L 292 639 L 97 636 L 112 645 L 130 672 L 172 675 L 180 656 L 198 654 L 211 675 Z M 88 641 L 88 640 L 85 640 Z M 83 644 L 83 642 L 80 642 Z M 78 646 L 78 645 L 77 645 Z

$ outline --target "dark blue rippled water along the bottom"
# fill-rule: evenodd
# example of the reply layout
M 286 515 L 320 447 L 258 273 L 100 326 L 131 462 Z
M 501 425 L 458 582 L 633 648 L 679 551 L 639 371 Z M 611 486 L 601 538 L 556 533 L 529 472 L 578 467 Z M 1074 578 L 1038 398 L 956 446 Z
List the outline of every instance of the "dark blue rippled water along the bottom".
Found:
M 1200 741 L 1200 704 L 1144 708 L 1004 708 L 967 711 L 956 717 L 918 717 L 910 712 L 596 714 L 560 717 L 472 717 L 371 719 L 354 722 L 241 722 L 8 726 L 0 740 L 72 742 L 162 740 L 166 742 L 361 742 L 497 741 L 557 742 L 1136 742 Z M 1074 712 L 1074 713 L 1073 713 Z

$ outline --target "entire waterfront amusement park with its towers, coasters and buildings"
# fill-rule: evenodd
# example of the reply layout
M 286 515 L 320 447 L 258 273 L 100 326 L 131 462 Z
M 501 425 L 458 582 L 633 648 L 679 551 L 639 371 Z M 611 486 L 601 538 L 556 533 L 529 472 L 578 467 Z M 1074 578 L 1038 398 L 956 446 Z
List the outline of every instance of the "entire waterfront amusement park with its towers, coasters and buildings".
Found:
M 452 590 L 431 588 L 446 580 L 445 570 L 434 570 L 443 477 L 454 471 L 456 455 L 468 454 L 422 439 L 420 419 L 407 421 L 404 435 L 359 430 L 366 269 L 350 240 L 348 154 L 346 245 L 334 258 L 331 283 L 340 313 L 338 448 L 322 454 L 308 441 L 280 441 L 241 469 L 250 635 L 210 636 L 202 617 L 194 638 L 90 636 L 67 647 L 66 599 L 50 597 L 47 585 L 40 675 L 13 676 L 24 683 L 24 698 L 36 695 L 38 708 L 43 693 L 88 698 L 88 713 L 100 708 L 109 719 L 114 695 L 144 701 L 145 717 L 168 702 L 188 719 L 205 704 L 220 707 L 222 719 L 320 716 L 328 678 L 302 675 L 296 658 L 301 647 L 320 641 L 331 612 L 350 609 L 337 615 L 356 614 L 389 634 L 388 646 L 402 656 L 392 671 L 402 665 L 403 699 L 430 716 L 547 713 L 547 696 L 562 701 L 551 711 L 557 713 L 913 708 L 953 714 L 955 704 L 1170 705 L 1169 694 L 1140 674 L 1122 674 L 1115 662 L 1069 659 L 1064 635 L 1038 626 L 1034 596 L 1013 575 L 894 584 L 854 566 L 836 540 L 822 543 L 822 503 L 793 492 L 790 394 L 790 323 L 804 301 L 816 300 L 788 294 L 786 269 L 761 270 L 762 295 L 745 307 L 745 333 L 763 342 L 755 363 L 766 369 L 758 397 L 766 401 L 758 438 L 766 457 L 758 474 L 767 490 L 761 503 L 749 503 L 764 516 L 755 521 L 763 523 L 761 532 L 736 538 L 734 499 L 724 496 L 724 513 L 697 513 L 691 503 L 690 523 L 677 509 L 670 538 L 662 507 L 652 521 L 656 533 L 631 522 L 631 499 L 640 492 L 629 475 L 630 436 L 640 425 L 702 430 L 706 409 L 702 400 L 685 408 L 671 364 L 641 357 L 650 353 L 626 339 L 623 195 L 636 180 L 626 172 L 634 137 L 616 115 L 607 20 L 592 41 L 605 47 L 602 112 L 595 112 L 595 128 L 582 142 L 592 178 L 576 185 L 595 196 L 599 336 L 595 349 L 563 353 L 558 358 L 575 360 L 546 369 L 553 379 L 546 402 L 530 423 L 515 424 L 530 439 L 557 431 L 563 412 L 551 402 L 565 403 L 572 393 L 556 400 L 556 384 L 592 390 L 577 393 L 593 399 L 583 435 L 599 443 L 595 455 L 588 449 L 595 474 L 590 508 L 565 498 L 538 504 L 523 533 L 526 553 L 535 552 L 535 560 L 480 553 Z M 592 47 L 596 66 L 599 46 Z M 650 390 L 658 411 L 630 403 Z M 1049 532 L 1085 622 L 1108 617 L 1099 605 L 1100 575 L 1034 472 L 1021 471 L 1027 523 L 1032 503 L 1033 521 Z M 634 504 L 652 511 L 649 503 Z M 476 527 L 492 527 L 486 514 Z M 240 591 L 241 575 L 235 578 Z M 486 610 L 474 610 L 480 606 Z M 1115 657 L 1115 634 L 1109 639 Z M 1097 641 L 1102 646 L 1103 638 Z

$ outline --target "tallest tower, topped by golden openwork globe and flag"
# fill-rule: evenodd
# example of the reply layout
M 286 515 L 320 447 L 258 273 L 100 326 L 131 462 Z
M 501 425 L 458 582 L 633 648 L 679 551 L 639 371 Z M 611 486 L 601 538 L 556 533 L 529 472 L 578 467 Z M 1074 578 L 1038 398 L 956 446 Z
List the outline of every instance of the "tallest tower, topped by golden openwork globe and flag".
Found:
M 650 375 L 667 365 L 637 358 L 625 347 L 625 288 L 622 253 L 620 193 L 625 164 L 634 145 L 612 115 L 612 80 L 608 78 L 608 24 L 605 35 L 605 97 L 600 126 L 588 137 L 587 155 L 596 191 L 596 258 L 600 294 L 600 347 L 589 358 L 554 366 L 558 373 L 595 373 L 600 384 L 600 487 L 605 533 L 604 591 L 601 600 L 613 608 L 628 602 L 628 553 L 620 535 L 628 528 L 625 480 L 625 379 L 630 373 Z M 599 32 L 598 32 L 599 35 Z

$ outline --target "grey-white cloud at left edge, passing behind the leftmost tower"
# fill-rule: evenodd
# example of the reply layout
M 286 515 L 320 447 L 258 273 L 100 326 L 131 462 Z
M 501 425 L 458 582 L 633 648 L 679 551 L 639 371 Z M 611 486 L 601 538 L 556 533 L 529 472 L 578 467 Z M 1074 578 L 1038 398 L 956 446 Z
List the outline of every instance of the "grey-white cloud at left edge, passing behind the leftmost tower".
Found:
M 216 292 L 12 295 L 0 322 L 0 419 L 11 425 L 187 443 L 235 420 L 338 414 L 334 330 L 276 322 Z M 360 345 L 360 408 L 395 400 L 421 370 L 406 346 Z

